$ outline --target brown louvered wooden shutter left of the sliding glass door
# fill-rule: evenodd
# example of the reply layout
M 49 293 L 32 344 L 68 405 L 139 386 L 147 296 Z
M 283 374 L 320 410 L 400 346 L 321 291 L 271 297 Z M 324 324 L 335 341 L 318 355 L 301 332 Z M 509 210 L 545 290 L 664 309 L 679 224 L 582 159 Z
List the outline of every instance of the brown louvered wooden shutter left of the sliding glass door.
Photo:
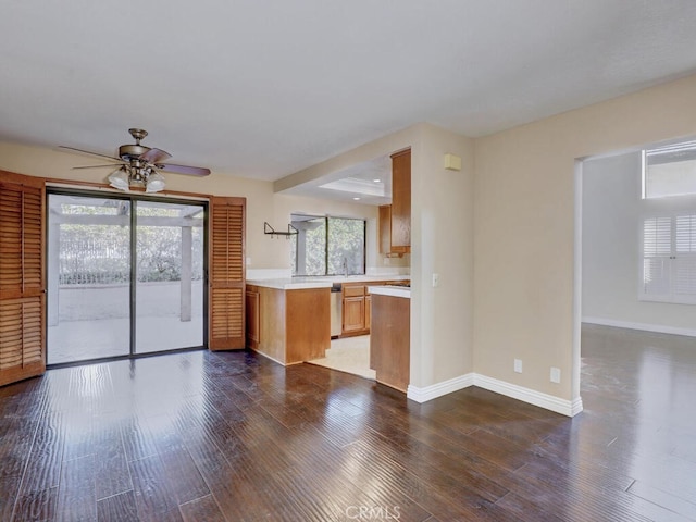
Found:
M 0 171 L 0 386 L 46 371 L 44 179 Z

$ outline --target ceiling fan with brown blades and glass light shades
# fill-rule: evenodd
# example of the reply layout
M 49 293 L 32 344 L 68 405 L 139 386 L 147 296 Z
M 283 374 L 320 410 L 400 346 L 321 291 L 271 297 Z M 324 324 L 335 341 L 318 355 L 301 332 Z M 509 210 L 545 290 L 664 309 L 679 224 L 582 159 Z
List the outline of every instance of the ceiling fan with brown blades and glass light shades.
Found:
M 164 176 L 158 171 L 186 174 L 189 176 L 208 176 L 210 174 L 210 169 L 162 163 L 164 160 L 171 158 L 172 154 L 161 149 L 140 145 L 140 140 L 148 135 L 147 130 L 129 128 L 128 133 L 130 133 L 130 136 L 135 139 L 135 144 L 126 144 L 119 147 L 119 158 L 76 149 L 74 147 L 60 146 L 60 148 L 113 160 L 115 163 L 109 163 L 107 165 L 74 166 L 73 169 L 117 166 L 119 169 L 112 172 L 108 179 L 112 187 L 120 190 L 129 190 L 132 185 L 145 187 L 146 192 L 159 192 L 163 190 Z

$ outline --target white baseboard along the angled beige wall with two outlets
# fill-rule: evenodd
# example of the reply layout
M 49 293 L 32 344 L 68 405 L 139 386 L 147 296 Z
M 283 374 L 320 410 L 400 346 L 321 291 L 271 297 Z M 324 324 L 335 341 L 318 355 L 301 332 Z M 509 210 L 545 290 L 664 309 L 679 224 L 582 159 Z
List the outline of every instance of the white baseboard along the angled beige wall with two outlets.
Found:
M 478 386 L 480 388 L 495 391 L 496 394 L 538 406 L 539 408 L 545 408 L 567 417 L 575 417 L 577 413 L 583 411 L 583 400 L 580 397 L 572 401 L 566 400 L 554 397 L 552 395 L 535 391 L 534 389 L 524 388 L 515 384 L 506 383 L 505 381 L 478 375 L 477 373 L 468 373 L 459 377 L 450 378 L 449 381 L 425 386 L 424 388 L 409 385 L 407 398 L 417 402 L 427 402 L 428 400 L 458 391 L 469 386 Z

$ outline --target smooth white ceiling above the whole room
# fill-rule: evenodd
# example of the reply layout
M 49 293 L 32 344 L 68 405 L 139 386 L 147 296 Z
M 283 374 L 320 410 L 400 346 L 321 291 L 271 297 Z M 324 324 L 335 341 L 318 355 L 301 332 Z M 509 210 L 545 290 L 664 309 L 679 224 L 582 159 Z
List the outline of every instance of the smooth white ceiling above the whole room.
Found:
M 694 0 L 5 0 L 0 140 L 273 181 L 418 122 L 483 136 L 696 71 Z

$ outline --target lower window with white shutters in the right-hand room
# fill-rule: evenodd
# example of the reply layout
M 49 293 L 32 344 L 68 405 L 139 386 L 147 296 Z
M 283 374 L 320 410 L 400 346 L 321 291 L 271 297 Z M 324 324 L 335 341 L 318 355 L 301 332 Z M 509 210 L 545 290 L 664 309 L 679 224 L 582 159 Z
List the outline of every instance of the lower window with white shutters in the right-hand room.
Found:
M 643 300 L 696 304 L 696 214 L 644 220 L 642 278 Z

